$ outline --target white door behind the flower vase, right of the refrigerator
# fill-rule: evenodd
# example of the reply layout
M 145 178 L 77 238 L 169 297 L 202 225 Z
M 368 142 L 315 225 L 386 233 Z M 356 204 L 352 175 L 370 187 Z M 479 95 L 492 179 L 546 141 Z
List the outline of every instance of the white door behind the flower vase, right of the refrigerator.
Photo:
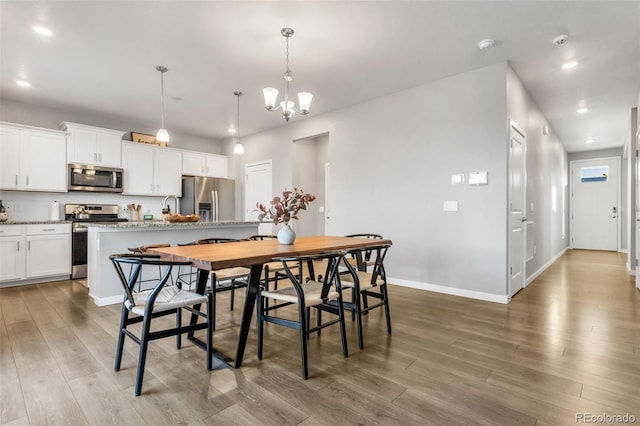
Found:
M 258 220 L 256 203 L 266 204 L 273 198 L 271 160 L 249 163 L 244 166 L 244 219 Z M 273 233 L 271 223 L 260 224 L 260 234 Z

